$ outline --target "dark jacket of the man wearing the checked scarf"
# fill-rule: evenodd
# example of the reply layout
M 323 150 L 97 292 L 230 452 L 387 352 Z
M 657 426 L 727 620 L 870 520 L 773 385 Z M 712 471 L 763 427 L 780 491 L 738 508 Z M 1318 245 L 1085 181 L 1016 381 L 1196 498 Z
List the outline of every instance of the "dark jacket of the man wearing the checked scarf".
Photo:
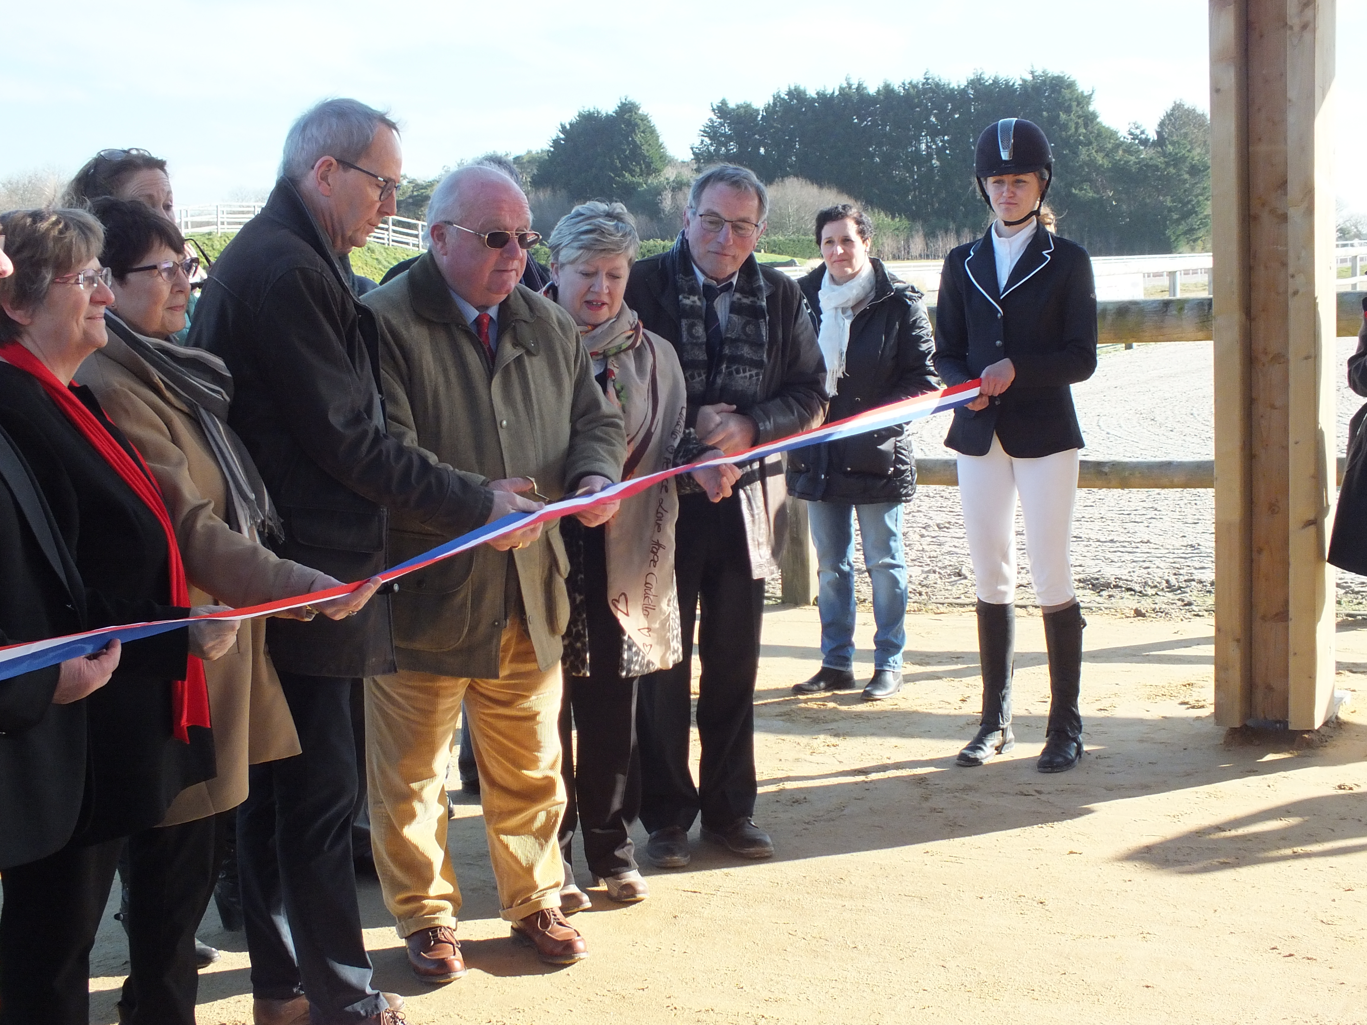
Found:
M 626 305 L 647 331 L 678 346 L 682 336 L 674 250 L 637 261 L 626 283 Z M 759 400 L 740 413 L 759 426 L 756 444 L 805 430 L 826 411 L 826 368 L 816 332 L 797 284 L 782 271 L 759 265 L 767 295 L 768 358 L 759 384 Z M 688 426 L 697 424 L 697 403 L 688 398 Z

